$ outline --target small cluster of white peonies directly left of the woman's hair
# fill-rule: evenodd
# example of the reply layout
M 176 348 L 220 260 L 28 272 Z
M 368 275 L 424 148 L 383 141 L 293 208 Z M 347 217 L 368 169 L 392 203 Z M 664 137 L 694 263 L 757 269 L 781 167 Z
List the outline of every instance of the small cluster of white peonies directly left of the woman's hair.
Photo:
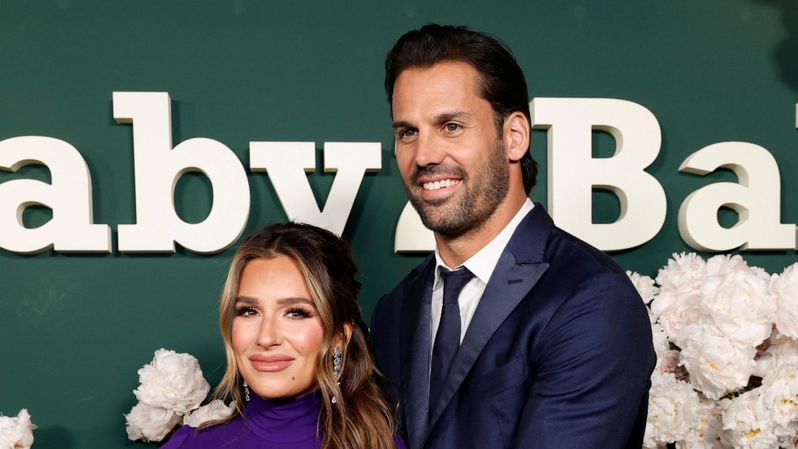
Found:
M 133 390 L 139 403 L 124 415 L 128 439 L 133 441 L 163 441 L 180 423 L 199 427 L 233 412 L 233 407 L 218 399 L 199 407 L 211 387 L 196 357 L 190 354 L 157 350 L 152 362 L 139 370 L 139 382 Z

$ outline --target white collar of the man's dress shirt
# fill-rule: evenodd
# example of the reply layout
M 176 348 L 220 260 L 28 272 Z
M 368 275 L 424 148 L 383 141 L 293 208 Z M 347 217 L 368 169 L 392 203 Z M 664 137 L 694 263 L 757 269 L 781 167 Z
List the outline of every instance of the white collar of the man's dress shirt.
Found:
M 456 268 L 449 268 L 444 264 L 444 260 L 440 258 L 440 252 L 438 252 L 437 245 L 435 246 L 435 279 L 433 280 L 433 290 L 437 290 L 442 286 L 440 282 L 440 272 L 446 269 L 457 269 L 460 267 L 468 268 L 474 276 L 476 276 L 479 280 L 484 282 L 484 284 L 488 284 L 488 280 L 491 279 L 493 274 L 493 270 L 496 268 L 496 264 L 499 263 L 499 257 L 501 256 L 502 251 L 504 251 L 504 247 L 512 238 L 513 232 L 516 232 L 516 228 L 523 220 L 523 217 L 527 216 L 527 213 L 532 210 L 535 205 L 532 201 L 527 198 L 527 201 L 523 202 L 521 205 L 521 209 L 518 209 L 515 217 L 512 217 L 512 220 L 504 226 L 504 229 L 499 232 L 499 234 L 493 237 L 493 240 L 488 242 L 482 249 L 476 252 L 473 256 L 469 257 L 468 260 L 463 262 L 463 264 L 457 266 Z

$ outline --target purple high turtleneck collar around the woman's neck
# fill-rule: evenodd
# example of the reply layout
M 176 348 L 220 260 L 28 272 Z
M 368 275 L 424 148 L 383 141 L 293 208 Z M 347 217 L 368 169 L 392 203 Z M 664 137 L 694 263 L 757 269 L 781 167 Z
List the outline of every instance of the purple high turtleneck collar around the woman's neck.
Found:
M 252 433 L 275 443 L 297 443 L 317 435 L 321 439 L 318 429 L 321 403 L 319 390 L 286 400 L 263 399 L 253 391 L 244 418 Z

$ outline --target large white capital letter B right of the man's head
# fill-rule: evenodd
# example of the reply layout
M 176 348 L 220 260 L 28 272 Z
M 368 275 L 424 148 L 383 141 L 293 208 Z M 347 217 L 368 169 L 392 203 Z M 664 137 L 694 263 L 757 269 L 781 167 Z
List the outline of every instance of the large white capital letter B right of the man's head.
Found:
M 603 251 L 644 244 L 665 223 L 662 185 L 643 171 L 662 142 L 657 118 L 642 105 L 614 98 L 535 98 L 534 128 L 548 131 L 548 212 L 560 228 Z M 592 132 L 615 138 L 613 157 L 592 157 Z M 621 214 L 592 222 L 592 189 L 618 196 Z

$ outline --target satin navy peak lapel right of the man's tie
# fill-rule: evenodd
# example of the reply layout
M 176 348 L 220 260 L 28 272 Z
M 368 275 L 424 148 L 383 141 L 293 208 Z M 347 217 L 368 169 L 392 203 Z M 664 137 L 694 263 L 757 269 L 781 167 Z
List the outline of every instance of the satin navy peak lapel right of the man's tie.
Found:
M 430 430 L 460 388 L 476 358 L 480 356 L 496 329 L 507 319 L 523 297 L 527 296 L 540 276 L 543 276 L 543 272 L 546 272 L 549 264 L 543 261 L 543 251 L 552 228 L 554 223 L 551 217 L 539 203 L 535 203 L 535 208 L 516 228 L 493 270 L 488 285 L 485 286 L 480 303 L 476 306 L 463 343 L 460 344 L 460 349 L 452 362 L 452 371 L 449 372 L 440 399 L 430 411 L 432 417 L 429 420 Z

